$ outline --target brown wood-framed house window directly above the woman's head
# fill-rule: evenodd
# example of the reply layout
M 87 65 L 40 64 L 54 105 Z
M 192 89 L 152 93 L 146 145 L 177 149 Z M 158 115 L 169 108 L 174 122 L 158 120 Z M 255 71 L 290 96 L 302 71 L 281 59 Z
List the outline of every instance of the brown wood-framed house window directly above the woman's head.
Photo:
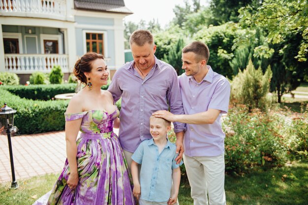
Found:
M 104 55 L 104 34 L 86 33 L 87 52 Z

